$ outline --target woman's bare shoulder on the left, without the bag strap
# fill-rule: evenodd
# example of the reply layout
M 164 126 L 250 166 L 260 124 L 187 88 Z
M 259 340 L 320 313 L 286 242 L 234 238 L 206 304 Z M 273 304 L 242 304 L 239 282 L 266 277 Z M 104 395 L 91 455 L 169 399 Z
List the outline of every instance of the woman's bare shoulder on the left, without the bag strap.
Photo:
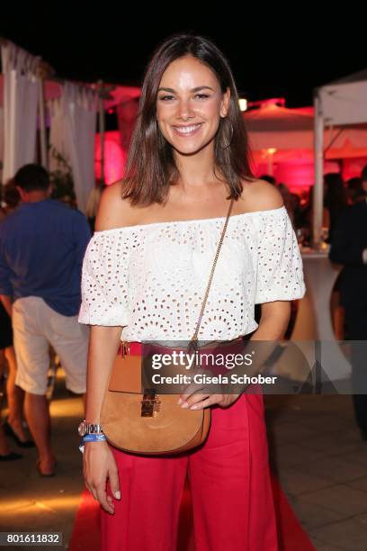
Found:
M 104 189 L 95 219 L 96 231 L 113 230 L 130 225 L 133 209 L 130 202 L 121 197 L 122 185 L 123 182 L 119 180 Z

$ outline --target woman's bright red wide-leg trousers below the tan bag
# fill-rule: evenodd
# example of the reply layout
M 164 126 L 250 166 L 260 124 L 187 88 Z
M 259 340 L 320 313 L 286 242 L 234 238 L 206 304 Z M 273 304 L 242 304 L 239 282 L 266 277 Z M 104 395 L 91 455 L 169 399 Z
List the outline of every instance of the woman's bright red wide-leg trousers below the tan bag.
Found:
M 277 551 L 262 394 L 212 406 L 207 440 L 183 455 L 111 449 L 121 501 L 101 509 L 102 551 L 175 551 L 186 472 L 196 551 Z

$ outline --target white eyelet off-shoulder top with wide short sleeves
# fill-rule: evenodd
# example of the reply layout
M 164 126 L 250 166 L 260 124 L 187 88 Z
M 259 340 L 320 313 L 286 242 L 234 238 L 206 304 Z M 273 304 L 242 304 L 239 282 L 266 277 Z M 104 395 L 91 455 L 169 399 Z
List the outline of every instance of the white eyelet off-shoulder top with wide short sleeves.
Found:
M 80 323 L 121 326 L 125 340 L 189 340 L 225 217 L 95 231 L 85 250 Z M 298 242 L 285 207 L 232 215 L 199 339 L 257 328 L 255 304 L 305 293 Z

